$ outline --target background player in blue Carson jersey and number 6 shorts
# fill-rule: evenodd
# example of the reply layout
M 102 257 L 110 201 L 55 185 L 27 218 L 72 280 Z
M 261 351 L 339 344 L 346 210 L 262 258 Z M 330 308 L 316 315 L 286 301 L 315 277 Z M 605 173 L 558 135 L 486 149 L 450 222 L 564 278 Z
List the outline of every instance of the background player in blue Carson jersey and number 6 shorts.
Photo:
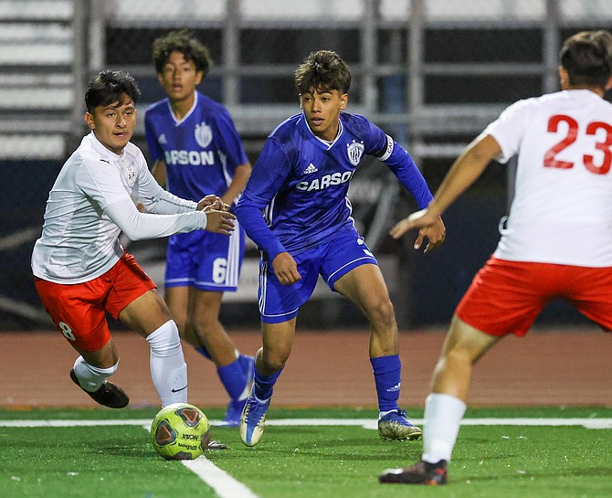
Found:
M 189 31 L 153 42 L 153 63 L 167 98 L 144 115 L 153 175 L 176 196 L 220 196 L 228 207 L 247 185 L 251 164 L 227 110 L 195 90 L 212 66 L 207 48 Z M 211 237 L 209 237 L 211 236 Z M 244 230 L 232 237 L 205 232 L 172 236 L 165 300 L 182 337 L 212 359 L 230 397 L 226 422 L 237 426 L 252 378 L 252 356 L 240 355 L 219 322 L 223 292 L 236 291 Z

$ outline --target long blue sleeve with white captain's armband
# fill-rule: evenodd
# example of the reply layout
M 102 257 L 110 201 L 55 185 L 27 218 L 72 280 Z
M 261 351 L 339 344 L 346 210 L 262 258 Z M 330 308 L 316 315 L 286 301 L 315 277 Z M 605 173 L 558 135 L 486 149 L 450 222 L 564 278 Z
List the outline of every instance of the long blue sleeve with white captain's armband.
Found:
M 415 197 L 419 209 L 429 206 L 434 196 L 410 154 L 378 126 L 371 122 L 369 125 L 369 151 L 366 152 L 389 166 L 399 182 Z

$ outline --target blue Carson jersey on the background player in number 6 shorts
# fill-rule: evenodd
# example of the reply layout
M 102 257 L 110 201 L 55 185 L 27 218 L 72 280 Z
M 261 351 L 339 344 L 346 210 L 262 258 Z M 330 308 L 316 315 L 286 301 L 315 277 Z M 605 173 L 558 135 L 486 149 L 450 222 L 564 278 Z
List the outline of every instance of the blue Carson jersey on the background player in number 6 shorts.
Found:
M 180 121 L 168 99 L 154 103 L 144 114 L 144 130 L 153 163 L 165 163 L 168 190 L 185 199 L 222 196 L 237 166 L 248 162 L 226 108 L 199 91 Z

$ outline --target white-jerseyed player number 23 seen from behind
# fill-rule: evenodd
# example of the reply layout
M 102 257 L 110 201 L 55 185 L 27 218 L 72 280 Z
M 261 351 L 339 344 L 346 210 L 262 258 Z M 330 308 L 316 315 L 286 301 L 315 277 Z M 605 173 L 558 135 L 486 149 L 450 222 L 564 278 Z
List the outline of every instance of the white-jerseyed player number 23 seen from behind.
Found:
M 493 159 L 518 155 L 500 243 L 456 310 L 425 407 L 422 460 L 380 482 L 444 484 L 466 409 L 472 365 L 501 337 L 522 336 L 564 298 L 612 330 L 612 35 L 578 33 L 560 54 L 562 90 L 512 104 L 466 148 L 432 203 L 392 228 L 429 226 Z

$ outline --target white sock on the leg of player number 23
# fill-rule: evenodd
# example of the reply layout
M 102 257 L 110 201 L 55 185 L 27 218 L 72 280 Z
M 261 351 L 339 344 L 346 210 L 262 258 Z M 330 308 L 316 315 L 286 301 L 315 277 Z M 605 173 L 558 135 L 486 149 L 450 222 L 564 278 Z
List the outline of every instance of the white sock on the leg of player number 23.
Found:
M 450 461 L 467 405 L 459 397 L 432 393 L 425 402 L 423 460 Z

